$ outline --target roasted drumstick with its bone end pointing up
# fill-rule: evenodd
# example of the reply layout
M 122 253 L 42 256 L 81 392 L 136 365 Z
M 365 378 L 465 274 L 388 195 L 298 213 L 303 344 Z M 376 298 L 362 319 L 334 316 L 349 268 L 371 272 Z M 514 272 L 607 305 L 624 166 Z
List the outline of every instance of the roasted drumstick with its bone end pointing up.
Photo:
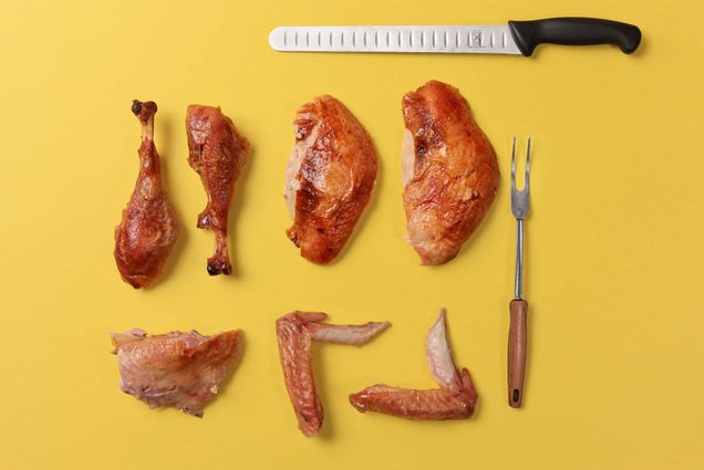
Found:
M 122 279 L 139 289 L 159 275 L 180 224 L 162 189 L 159 156 L 153 139 L 156 103 L 135 100 L 132 112 L 142 123 L 139 176 L 122 221 L 115 227 L 114 255 Z

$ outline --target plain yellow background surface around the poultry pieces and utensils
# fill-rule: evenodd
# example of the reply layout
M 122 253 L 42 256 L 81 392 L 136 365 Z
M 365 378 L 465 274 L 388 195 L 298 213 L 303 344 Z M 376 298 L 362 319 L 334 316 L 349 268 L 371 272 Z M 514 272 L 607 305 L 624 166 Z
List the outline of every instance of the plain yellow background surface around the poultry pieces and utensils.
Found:
M 704 468 L 704 7 L 701 1 L 4 2 L 0 18 L 0 468 Z M 283 54 L 281 24 L 503 23 L 565 14 L 641 27 L 632 56 L 542 46 L 531 59 Z M 403 93 L 458 86 L 494 143 L 496 203 L 456 260 L 422 268 L 403 241 Z M 333 265 L 284 236 L 297 107 L 342 100 L 381 168 Z M 164 182 L 185 226 L 163 280 L 134 291 L 113 227 L 137 171 L 132 98 L 154 100 Z M 236 274 L 211 279 L 205 195 L 186 163 L 190 103 L 220 105 L 252 143 L 232 210 Z M 509 148 L 535 142 L 527 222 L 531 305 L 525 409 L 506 405 L 514 220 Z M 480 401 L 469 421 L 361 415 L 376 382 L 432 387 L 423 342 L 448 309 L 456 363 Z M 317 346 L 322 434 L 297 429 L 275 320 L 390 320 L 362 348 Z M 108 332 L 239 327 L 241 365 L 196 419 L 117 387 Z

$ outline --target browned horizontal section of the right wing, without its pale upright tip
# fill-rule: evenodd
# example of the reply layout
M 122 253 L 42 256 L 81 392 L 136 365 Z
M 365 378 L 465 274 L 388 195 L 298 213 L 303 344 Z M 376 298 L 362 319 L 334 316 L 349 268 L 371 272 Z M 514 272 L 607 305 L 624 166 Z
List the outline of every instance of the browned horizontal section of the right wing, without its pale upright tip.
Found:
M 410 419 L 462 419 L 474 412 L 477 393 L 469 370 L 462 369 L 462 385 L 453 388 L 414 390 L 374 385 L 350 395 L 358 410 L 384 412 Z

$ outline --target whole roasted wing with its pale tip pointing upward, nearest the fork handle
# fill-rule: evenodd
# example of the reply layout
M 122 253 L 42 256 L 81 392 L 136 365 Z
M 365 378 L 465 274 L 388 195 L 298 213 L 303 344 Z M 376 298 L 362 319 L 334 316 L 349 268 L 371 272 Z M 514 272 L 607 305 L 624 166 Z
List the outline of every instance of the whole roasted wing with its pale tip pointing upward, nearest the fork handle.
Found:
M 460 419 L 474 412 L 477 393 L 469 370 L 458 372 L 447 343 L 445 310 L 431 327 L 425 341 L 425 355 L 431 374 L 439 388 L 413 390 L 374 385 L 350 395 L 360 411 L 377 411 L 411 419 Z

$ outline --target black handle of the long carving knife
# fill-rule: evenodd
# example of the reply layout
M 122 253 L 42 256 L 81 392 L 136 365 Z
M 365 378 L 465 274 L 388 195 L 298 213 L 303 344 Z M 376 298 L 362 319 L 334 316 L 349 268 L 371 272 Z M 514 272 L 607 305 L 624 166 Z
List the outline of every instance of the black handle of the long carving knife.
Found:
M 538 44 L 593 45 L 613 44 L 630 54 L 641 43 L 636 25 L 598 18 L 550 18 L 534 21 L 509 21 L 511 35 L 525 56 Z

